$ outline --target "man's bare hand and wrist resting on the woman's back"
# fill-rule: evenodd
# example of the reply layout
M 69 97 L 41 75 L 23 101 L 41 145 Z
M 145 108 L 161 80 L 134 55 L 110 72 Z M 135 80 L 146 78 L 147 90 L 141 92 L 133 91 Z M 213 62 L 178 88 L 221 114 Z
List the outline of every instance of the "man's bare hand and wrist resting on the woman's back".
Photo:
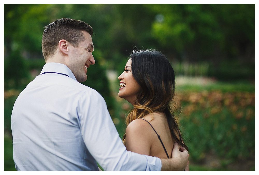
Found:
M 172 158 L 161 159 L 161 171 L 183 171 L 189 164 L 188 157 L 188 151 L 175 143 L 172 150 Z

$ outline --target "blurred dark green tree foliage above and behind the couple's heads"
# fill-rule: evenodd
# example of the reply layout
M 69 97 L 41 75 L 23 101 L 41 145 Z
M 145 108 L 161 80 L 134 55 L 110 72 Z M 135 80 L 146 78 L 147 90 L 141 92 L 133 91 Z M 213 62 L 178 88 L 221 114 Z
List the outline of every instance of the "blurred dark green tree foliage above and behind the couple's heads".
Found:
M 42 31 L 62 17 L 93 27 L 98 59 L 109 69 L 120 69 L 136 47 L 171 61 L 208 62 L 216 77 L 226 60 L 229 69 L 235 61 L 254 70 L 255 4 L 4 4 L 5 55 L 18 47 L 26 58 L 42 59 Z

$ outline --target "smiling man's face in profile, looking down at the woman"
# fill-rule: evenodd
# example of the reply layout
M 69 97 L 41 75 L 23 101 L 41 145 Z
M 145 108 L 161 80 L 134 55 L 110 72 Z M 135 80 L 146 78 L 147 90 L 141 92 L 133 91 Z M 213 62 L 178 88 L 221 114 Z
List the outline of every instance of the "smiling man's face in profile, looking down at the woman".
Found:
M 85 40 L 80 42 L 78 47 L 73 47 L 67 63 L 69 69 L 73 72 L 78 82 L 87 80 L 87 69 L 91 64 L 95 64 L 93 58 L 93 41 L 89 33 L 83 32 Z

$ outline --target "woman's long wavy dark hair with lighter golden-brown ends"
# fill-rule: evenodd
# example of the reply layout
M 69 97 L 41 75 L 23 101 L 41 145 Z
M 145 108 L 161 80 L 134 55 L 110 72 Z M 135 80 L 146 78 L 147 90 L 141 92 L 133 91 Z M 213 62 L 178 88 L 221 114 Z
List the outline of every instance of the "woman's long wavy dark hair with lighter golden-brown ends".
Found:
M 188 150 L 174 116 L 173 109 L 175 106 L 179 106 L 173 101 L 175 73 L 166 56 L 157 50 L 145 49 L 133 51 L 130 58 L 132 75 L 142 91 L 137 95 L 133 109 L 126 117 L 126 124 L 130 124 L 131 121 L 142 118 L 148 113 L 153 115 L 153 112 L 163 112 L 166 115 L 173 140 Z M 124 144 L 125 138 L 126 134 L 123 136 Z

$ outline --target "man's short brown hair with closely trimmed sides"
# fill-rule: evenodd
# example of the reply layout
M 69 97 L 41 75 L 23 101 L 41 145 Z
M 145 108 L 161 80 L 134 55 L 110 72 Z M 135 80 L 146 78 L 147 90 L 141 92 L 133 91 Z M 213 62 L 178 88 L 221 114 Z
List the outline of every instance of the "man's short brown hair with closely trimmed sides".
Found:
M 93 35 L 92 27 L 84 21 L 61 18 L 47 25 L 43 31 L 41 48 L 45 61 L 55 53 L 60 40 L 64 39 L 77 47 L 79 42 L 84 41 L 82 31 Z

